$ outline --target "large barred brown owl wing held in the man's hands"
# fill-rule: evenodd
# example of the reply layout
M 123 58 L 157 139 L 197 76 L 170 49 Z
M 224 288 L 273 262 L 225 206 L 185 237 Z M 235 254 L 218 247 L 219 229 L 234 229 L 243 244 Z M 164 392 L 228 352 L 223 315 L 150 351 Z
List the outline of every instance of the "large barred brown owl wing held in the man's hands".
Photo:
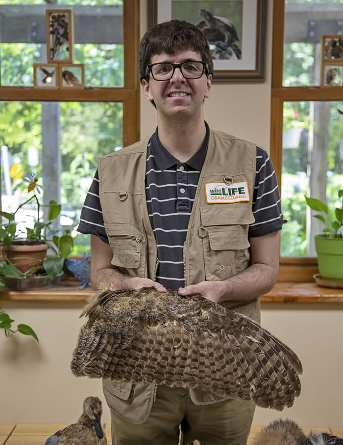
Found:
M 281 411 L 300 393 L 294 352 L 249 318 L 198 295 L 105 291 L 84 309 L 76 376 L 212 391 Z

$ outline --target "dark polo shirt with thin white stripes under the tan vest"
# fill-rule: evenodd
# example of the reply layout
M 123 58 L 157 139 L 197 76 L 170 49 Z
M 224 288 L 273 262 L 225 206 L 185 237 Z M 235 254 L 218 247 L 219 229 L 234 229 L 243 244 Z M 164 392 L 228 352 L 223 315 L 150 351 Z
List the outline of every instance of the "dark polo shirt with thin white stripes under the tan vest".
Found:
M 159 267 L 156 281 L 167 289 L 184 286 L 183 244 L 192 211 L 200 171 L 205 160 L 209 128 L 200 150 L 187 162 L 179 162 L 161 144 L 158 129 L 147 146 L 147 210 L 157 243 Z M 281 213 L 276 176 L 267 152 L 256 146 L 256 179 L 252 200 L 255 222 L 249 237 L 281 229 Z M 94 234 L 108 243 L 99 199 L 98 171 L 86 196 L 77 230 Z

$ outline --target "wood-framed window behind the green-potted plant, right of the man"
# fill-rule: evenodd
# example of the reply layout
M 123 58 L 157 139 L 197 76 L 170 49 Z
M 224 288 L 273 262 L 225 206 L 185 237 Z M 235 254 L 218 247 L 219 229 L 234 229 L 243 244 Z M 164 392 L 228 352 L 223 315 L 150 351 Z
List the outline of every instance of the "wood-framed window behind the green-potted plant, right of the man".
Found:
M 288 220 L 281 256 L 311 264 L 313 234 L 323 225 L 304 195 L 338 200 L 343 188 L 343 87 L 320 87 L 321 37 L 343 33 L 343 3 L 275 0 L 273 7 L 270 155 Z

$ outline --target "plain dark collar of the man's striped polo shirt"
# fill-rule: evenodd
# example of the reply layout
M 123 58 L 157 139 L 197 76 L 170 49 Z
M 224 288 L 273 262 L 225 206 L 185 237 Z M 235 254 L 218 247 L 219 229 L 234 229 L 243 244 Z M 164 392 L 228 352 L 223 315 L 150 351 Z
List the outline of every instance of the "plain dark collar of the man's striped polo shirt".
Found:
M 187 162 L 182 163 L 199 171 L 201 170 L 202 165 L 204 163 L 207 153 L 208 141 L 210 139 L 210 129 L 206 121 L 205 121 L 205 127 L 206 127 L 206 136 L 204 139 L 204 143 L 202 144 L 202 147 L 192 156 L 191 159 L 189 159 Z M 180 161 L 176 159 L 171 153 L 169 153 L 169 151 L 162 145 L 158 137 L 158 127 L 156 128 L 156 132 L 152 136 L 150 142 L 151 142 L 150 148 L 152 154 L 155 158 L 155 161 L 158 164 L 158 167 L 160 167 L 161 170 L 166 170 L 176 164 L 180 164 Z

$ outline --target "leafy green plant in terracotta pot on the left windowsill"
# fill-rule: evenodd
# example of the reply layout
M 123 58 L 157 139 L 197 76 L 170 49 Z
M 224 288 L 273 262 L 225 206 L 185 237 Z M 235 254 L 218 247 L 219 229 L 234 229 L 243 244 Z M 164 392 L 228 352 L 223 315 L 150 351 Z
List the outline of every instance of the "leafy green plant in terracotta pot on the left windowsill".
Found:
M 64 260 L 73 249 L 73 238 L 68 234 L 57 236 L 60 229 L 51 227 L 52 220 L 61 212 L 61 205 L 53 200 L 47 206 L 42 205 L 35 193 L 35 181 L 32 181 L 28 187 L 28 193 L 33 191 L 33 195 L 20 204 L 13 213 L 0 211 L 2 221 L 0 226 L 0 245 L 2 246 L 0 289 L 7 289 L 8 285 L 18 280 L 21 283 L 28 283 L 28 281 L 23 281 L 27 278 L 35 278 L 33 281 L 36 283 L 39 280 L 37 277 L 46 277 L 45 281 L 53 280 L 62 275 Z M 31 201 L 36 204 L 36 216 L 33 227 L 25 227 L 24 232 L 23 229 L 18 229 L 15 215 Z M 42 207 L 48 207 L 47 222 L 42 221 L 40 215 Z M 52 255 L 47 256 L 48 248 Z M 22 288 L 25 287 L 24 284 Z M 27 287 L 32 287 L 31 283 Z

